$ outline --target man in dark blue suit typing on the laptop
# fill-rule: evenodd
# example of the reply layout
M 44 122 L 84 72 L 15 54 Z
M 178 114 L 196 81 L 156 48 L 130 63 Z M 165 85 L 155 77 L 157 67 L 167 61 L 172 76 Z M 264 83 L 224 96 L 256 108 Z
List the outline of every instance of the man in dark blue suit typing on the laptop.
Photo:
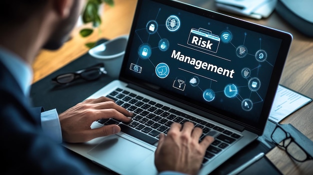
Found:
M 32 64 L 40 49 L 57 49 L 67 39 L 84 0 L 0 1 L 0 131 L 1 174 L 91 174 L 70 157 L 61 142 L 86 142 L 120 132 L 117 125 L 90 129 L 93 121 L 115 118 L 129 122 L 132 114 L 106 97 L 78 103 L 62 114 L 42 112 L 28 103 Z M 155 166 L 160 174 L 198 172 L 213 141 L 192 123 L 173 124 L 160 135 Z

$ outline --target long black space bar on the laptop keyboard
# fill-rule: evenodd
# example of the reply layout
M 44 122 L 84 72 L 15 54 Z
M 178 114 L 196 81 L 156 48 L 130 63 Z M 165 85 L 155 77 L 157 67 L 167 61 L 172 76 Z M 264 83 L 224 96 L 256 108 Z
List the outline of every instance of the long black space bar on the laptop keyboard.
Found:
M 140 131 L 137 131 L 135 129 L 129 128 L 126 125 L 120 124 L 119 127 L 120 127 L 121 132 L 123 132 L 125 134 L 128 134 L 128 135 L 130 135 L 130 136 L 132 136 L 134 138 L 140 139 L 140 140 L 142 140 L 142 141 L 144 141 L 144 142 L 146 142 L 148 144 L 153 145 L 153 144 L 155 144 L 158 141 L 157 139 L 155 139 L 155 138 L 153 138 L 151 136 L 148 136 L 146 134 L 143 134 Z M 147 127 L 145 127 L 145 128 L 147 128 Z M 143 128 L 143 129 L 145 129 L 145 128 Z

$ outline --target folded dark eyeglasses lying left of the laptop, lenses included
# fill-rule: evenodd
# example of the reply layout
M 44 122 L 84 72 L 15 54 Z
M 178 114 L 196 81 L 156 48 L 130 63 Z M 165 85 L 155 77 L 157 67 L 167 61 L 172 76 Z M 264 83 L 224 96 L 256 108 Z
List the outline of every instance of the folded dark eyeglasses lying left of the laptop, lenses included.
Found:
M 86 81 L 92 81 L 98 79 L 101 74 L 106 73 L 107 72 L 104 69 L 104 64 L 98 63 L 91 67 L 78 70 L 76 72 L 57 75 L 56 77 L 52 78 L 52 81 L 59 84 L 67 84 L 79 78 Z

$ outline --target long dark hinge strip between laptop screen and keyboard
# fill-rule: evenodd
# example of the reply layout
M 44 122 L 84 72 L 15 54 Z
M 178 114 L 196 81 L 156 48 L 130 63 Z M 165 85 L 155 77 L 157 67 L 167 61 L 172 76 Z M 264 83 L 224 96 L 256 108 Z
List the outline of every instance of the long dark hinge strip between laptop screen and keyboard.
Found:
M 157 91 L 158 89 L 156 88 L 155 91 L 152 91 L 152 90 L 147 90 L 145 88 L 142 88 L 142 87 L 139 87 L 135 84 L 132 84 L 132 83 L 128 83 L 127 87 L 131 88 L 131 89 L 135 89 L 139 92 L 143 92 L 144 94 L 149 94 L 149 96 L 153 97 L 153 98 L 156 98 L 156 99 L 159 99 L 161 101 L 165 101 L 166 103 L 169 103 L 171 105 L 175 105 L 181 109 L 184 109 L 186 111 L 189 111 L 189 112 L 192 112 L 192 113 L 195 113 L 199 116 L 205 116 L 205 118 L 209 119 L 209 120 L 212 120 L 214 122 L 217 122 L 217 123 L 220 123 L 222 125 L 225 125 L 227 127 L 230 127 L 232 129 L 235 129 L 237 131 L 240 131 L 242 132 L 245 127 L 244 126 L 241 126 L 237 123 L 234 123 L 234 122 L 231 122 L 229 120 L 226 120 L 226 119 L 223 119 L 222 117 L 218 116 L 217 114 L 213 114 L 213 113 L 209 113 L 209 112 L 205 112 L 205 111 L 202 111 L 200 109 L 197 109 L 197 108 L 194 108 L 190 105 L 187 105 L 187 104 L 184 104 L 182 102 L 179 102 L 179 101 L 176 101 L 174 99 L 171 99 L 171 98 L 168 98 L 160 93 L 157 93 L 155 91 Z

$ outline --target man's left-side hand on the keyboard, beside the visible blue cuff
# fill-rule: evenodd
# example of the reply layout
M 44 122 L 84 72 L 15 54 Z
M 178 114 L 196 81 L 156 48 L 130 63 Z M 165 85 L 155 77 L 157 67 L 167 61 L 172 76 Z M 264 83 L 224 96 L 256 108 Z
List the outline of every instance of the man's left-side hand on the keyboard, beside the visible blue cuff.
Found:
M 132 113 L 117 105 L 109 98 L 87 99 L 59 115 L 63 141 L 69 143 L 87 142 L 91 139 L 120 132 L 117 125 L 91 129 L 92 122 L 114 118 L 130 122 Z

